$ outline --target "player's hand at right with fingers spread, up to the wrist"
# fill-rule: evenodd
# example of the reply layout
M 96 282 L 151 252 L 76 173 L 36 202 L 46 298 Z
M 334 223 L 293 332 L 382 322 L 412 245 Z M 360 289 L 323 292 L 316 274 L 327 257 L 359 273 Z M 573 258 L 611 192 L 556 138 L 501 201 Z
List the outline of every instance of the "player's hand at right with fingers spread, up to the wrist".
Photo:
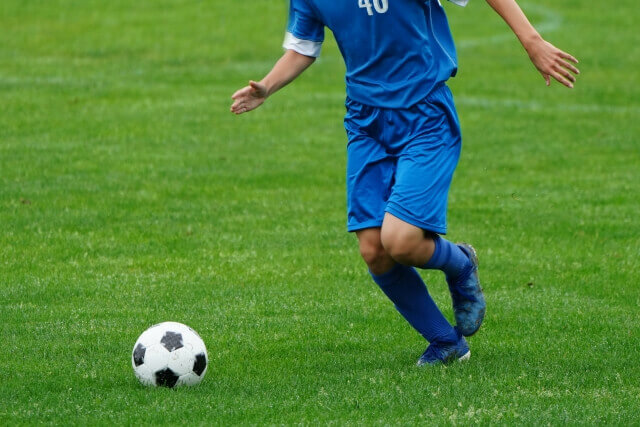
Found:
M 573 89 L 576 75 L 580 74 L 580 70 L 574 65 L 578 63 L 576 58 L 543 39 L 536 40 L 526 49 L 531 62 L 540 71 L 547 86 L 551 85 L 551 77 L 553 77 L 566 87 Z

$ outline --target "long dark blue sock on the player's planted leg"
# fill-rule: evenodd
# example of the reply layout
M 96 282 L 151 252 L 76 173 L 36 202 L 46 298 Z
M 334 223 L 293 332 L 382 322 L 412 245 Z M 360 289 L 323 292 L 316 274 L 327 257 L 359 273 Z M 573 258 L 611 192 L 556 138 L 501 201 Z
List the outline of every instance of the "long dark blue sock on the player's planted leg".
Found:
M 427 287 L 414 268 L 396 264 L 390 271 L 379 276 L 371 273 L 371 277 L 393 301 L 396 310 L 427 341 L 458 341 L 455 329 L 431 299 Z

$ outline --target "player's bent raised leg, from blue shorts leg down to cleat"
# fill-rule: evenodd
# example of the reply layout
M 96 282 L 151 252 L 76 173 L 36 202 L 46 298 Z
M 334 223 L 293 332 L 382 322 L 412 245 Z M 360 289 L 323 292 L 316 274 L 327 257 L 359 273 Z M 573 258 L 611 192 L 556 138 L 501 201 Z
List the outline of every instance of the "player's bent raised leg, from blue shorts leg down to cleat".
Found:
M 446 233 L 447 196 L 461 148 L 451 93 L 442 87 L 423 103 L 397 114 L 397 122 L 413 127 L 410 141 L 399 148 L 381 230 L 383 246 L 399 263 L 443 271 L 457 326 L 464 335 L 472 335 L 485 313 L 475 251 L 438 235 Z

